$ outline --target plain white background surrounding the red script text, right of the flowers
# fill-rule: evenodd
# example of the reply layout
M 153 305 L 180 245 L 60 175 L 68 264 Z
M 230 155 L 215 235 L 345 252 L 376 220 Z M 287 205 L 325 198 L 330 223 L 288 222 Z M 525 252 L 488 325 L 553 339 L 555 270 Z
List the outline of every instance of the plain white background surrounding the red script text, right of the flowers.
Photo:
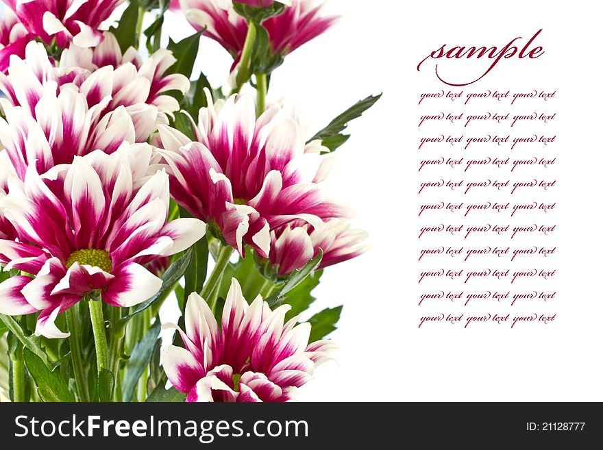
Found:
M 373 249 L 328 269 L 316 309 L 343 303 L 339 366 L 321 366 L 304 401 L 601 401 L 602 301 L 598 48 L 602 8 L 576 1 L 331 0 L 343 16 L 330 32 L 288 56 L 269 101 L 296 101 L 312 131 L 367 95 L 382 100 L 350 125 L 330 179 L 336 199 L 358 211 Z M 491 6 L 489 6 L 491 5 Z M 172 22 L 173 20 L 173 22 Z M 170 18 L 174 38 L 187 34 Z M 543 57 L 502 61 L 473 85 L 556 90 L 558 320 L 546 327 L 417 329 L 417 99 L 439 90 L 433 65 L 441 45 L 502 46 L 538 29 Z M 176 31 L 178 34 L 176 34 Z M 200 67 L 225 81 L 230 57 L 201 39 Z M 460 74 L 463 68 L 458 69 Z M 474 67 L 469 68 L 474 74 Z

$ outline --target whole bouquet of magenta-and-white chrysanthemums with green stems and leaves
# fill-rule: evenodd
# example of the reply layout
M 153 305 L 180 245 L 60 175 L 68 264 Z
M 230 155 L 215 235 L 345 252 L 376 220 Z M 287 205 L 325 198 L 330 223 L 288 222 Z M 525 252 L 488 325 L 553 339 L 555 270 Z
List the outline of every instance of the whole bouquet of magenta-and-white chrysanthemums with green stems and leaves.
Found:
M 341 307 L 304 316 L 312 290 L 367 249 L 323 181 L 378 97 L 313 135 L 266 98 L 337 18 L 311 0 L 2 1 L 0 397 L 294 399 L 337 348 Z M 169 8 L 192 35 L 162 48 Z M 203 36 L 232 55 L 224 86 L 193 72 Z

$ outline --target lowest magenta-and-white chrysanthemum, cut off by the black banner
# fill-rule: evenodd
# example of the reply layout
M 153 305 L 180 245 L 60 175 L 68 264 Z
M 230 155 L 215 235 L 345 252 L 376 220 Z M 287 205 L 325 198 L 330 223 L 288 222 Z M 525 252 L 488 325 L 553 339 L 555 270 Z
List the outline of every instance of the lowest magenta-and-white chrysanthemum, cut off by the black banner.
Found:
M 258 296 L 251 305 L 236 279 L 228 291 L 221 327 L 206 301 L 188 297 L 180 332 L 186 348 L 168 345 L 162 351 L 165 373 L 186 401 L 288 401 L 295 388 L 308 382 L 315 368 L 331 360 L 332 340 L 308 345 L 311 326 L 284 323 L 291 307 L 272 311 Z

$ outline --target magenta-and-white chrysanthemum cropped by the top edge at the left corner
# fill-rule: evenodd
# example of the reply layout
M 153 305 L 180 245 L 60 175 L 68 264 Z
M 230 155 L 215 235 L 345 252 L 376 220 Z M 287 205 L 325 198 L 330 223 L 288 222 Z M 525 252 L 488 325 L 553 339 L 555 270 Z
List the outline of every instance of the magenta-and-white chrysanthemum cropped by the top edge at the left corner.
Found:
M 103 40 L 99 27 L 123 0 L 2 0 L 34 38 L 65 48 L 95 47 Z

